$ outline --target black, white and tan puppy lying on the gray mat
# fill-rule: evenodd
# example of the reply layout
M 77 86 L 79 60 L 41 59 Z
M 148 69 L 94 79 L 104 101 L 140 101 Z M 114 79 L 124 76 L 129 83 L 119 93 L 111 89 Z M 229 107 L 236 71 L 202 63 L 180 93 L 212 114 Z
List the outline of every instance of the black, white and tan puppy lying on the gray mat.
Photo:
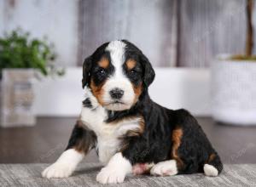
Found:
M 222 162 L 198 122 L 188 111 L 154 103 L 148 96 L 153 81 L 151 64 L 131 42 L 97 48 L 84 60 L 85 99 L 67 150 L 43 176 L 70 176 L 93 148 L 105 165 L 96 176 L 102 184 L 122 183 L 132 172 L 217 176 Z

